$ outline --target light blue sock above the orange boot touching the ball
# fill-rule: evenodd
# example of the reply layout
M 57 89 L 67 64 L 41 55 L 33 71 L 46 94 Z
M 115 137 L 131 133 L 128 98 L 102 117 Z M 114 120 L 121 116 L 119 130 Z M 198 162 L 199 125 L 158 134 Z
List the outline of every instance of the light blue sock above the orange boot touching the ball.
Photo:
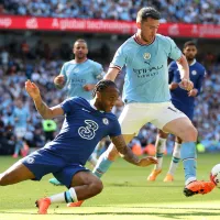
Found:
M 195 142 L 185 142 L 182 144 L 180 155 L 184 163 L 185 180 L 196 180 L 196 144 Z

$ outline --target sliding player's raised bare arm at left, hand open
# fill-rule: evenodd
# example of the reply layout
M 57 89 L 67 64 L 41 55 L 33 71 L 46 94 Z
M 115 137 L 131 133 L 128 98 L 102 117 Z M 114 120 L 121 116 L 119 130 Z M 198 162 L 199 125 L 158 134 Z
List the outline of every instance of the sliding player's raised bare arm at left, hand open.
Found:
M 34 82 L 28 80 L 25 82 L 25 89 L 29 96 L 33 99 L 34 105 L 43 119 L 53 119 L 64 114 L 64 110 L 59 106 L 48 108 L 46 103 L 44 103 L 40 89 Z

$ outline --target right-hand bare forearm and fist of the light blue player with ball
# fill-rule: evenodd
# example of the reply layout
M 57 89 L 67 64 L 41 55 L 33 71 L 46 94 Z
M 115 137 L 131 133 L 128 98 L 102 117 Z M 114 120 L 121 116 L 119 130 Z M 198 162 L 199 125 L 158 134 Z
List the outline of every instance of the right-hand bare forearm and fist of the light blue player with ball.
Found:
M 194 88 L 194 82 L 189 79 L 189 65 L 184 55 L 177 61 L 177 66 L 182 76 L 180 87 L 190 91 Z

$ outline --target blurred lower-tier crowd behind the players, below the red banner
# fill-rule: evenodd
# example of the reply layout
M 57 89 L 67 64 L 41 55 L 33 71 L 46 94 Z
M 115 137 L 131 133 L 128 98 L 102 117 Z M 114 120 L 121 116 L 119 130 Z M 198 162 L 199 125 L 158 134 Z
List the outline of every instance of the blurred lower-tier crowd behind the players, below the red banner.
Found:
M 44 45 L 44 46 L 42 46 Z M 68 46 L 66 46 L 68 47 Z M 58 90 L 54 87 L 53 79 L 61 72 L 64 62 L 72 58 L 70 45 L 62 53 L 61 48 L 52 50 L 48 44 L 37 42 L 33 48 L 26 42 L 21 44 L 11 43 L 0 48 L 0 154 L 2 148 L 12 151 L 15 143 L 14 138 L 14 117 L 13 110 L 16 101 L 21 100 L 23 108 L 29 112 L 28 132 L 25 134 L 26 143 L 30 147 L 42 147 L 50 141 L 46 135 L 45 127 L 41 116 L 36 112 L 33 101 L 29 98 L 24 82 L 31 79 L 41 89 L 43 100 L 50 106 L 56 106 L 65 99 L 65 90 Z M 89 58 L 97 61 L 97 53 L 89 54 Z M 102 59 L 102 65 L 107 70 L 110 57 Z M 220 150 L 220 64 L 215 55 L 208 54 L 202 59 L 207 67 L 207 77 L 205 79 L 204 91 L 196 101 L 196 114 L 194 123 L 199 131 L 199 142 L 207 150 Z M 117 79 L 119 88 L 122 88 L 123 75 L 120 74 Z M 120 116 L 123 109 L 121 100 L 117 102 L 113 113 Z M 55 120 L 57 128 L 53 131 L 56 135 L 59 131 L 63 118 Z M 154 144 L 156 139 L 156 128 L 146 124 L 135 138 L 131 146 L 141 145 L 145 147 Z M 174 138 L 170 135 L 167 141 L 167 152 L 173 148 Z M 108 145 L 109 141 L 106 144 Z M 4 152 L 7 153 L 7 152 Z

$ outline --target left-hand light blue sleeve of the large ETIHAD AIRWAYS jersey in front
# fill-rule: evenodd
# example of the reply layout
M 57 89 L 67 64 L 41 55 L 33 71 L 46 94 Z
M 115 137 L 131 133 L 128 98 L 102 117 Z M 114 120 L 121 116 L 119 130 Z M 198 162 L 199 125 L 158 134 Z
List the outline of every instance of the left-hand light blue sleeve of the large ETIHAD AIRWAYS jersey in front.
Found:
M 124 50 L 123 50 L 123 46 L 120 46 L 117 53 L 114 54 L 114 57 L 109 68 L 118 68 L 119 70 L 121 70 L 123 66 L 125 65 L 125 63 L 127 63 L 127 57 L 124 54 Z

